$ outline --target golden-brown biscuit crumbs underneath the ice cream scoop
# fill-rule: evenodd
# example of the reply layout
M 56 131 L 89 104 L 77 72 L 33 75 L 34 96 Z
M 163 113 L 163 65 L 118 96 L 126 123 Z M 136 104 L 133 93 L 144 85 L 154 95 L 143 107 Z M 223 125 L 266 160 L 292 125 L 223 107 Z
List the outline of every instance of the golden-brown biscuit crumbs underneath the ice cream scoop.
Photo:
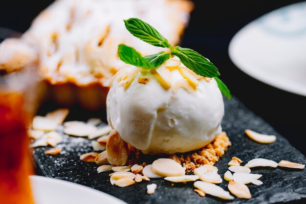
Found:
M 227 151 L 227 148 L 231 145 L 231 142 L 225 132 L 222 132 L 215 138 L 210 144 L 205 147 L 192 152 L 186 152 L 183 154 L 176 154 L 183 167 L 186 168 L 186 173 L 193 172 L 197 167 L 204 164 L 214 165 L 220 157 L 222 157 Z M 131 167 L 134 164 L 146 166 L 148 163 L 152 163 L 155 159 L 161 158 L 161 155 L 144 155 L 140 150 L 130 148 L 130 157 L 127 164 Z M 166 158 L 169 156 L 165 155 Z

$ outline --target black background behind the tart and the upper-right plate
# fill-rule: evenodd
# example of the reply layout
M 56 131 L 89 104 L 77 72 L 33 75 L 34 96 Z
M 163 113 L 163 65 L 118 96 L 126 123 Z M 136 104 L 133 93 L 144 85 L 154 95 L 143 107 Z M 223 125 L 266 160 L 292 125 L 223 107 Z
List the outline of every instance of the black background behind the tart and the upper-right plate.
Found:
M 257 81 L 240 71 L 228 56 L 228 44 L 240 28 L 269 11 L 298 1 L 194 0 L 196 7 L 181 45 L 209 58 L 219 68 L 221 79 L 232 93 L 306 155 L 306 97 Z M 32 19 L 51 2 L 2 0 L 0 26 L 24 32 Z

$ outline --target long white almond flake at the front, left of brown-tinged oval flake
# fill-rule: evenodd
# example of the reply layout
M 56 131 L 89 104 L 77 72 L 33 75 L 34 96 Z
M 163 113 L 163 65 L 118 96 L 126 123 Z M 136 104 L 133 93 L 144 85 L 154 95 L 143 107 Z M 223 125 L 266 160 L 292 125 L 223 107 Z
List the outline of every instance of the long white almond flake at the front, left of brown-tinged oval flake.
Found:
M 196 181 L 194 183 L 194 186 L 206 194 L 216 196 L 221 199 L 225 199 L 225 200 L 234 199 L 234 197 L 231 196 L 228 191 L 223 190 L 223 188 L 213 183 L 204 182 L 204 181 Z

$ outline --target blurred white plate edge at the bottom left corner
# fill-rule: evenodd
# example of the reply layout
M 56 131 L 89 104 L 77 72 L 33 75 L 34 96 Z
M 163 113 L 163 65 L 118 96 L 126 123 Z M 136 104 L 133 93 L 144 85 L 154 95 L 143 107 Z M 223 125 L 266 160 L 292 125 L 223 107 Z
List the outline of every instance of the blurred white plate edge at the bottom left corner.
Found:
M 98 190 L 58 179 L 30 176 L 35 204 L 126 204 Z

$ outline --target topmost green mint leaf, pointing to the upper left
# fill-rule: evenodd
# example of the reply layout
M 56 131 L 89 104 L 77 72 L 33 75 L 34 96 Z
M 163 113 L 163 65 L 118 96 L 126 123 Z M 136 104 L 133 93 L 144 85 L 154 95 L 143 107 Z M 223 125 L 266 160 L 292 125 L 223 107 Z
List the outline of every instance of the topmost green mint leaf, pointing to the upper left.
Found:
M 140 19 L 131 18 L 124 20 L 126 28 L 130 33 L 140 40 L 154 46 L 171 48 L 168 40 L 164 38 L 155 28 Z

